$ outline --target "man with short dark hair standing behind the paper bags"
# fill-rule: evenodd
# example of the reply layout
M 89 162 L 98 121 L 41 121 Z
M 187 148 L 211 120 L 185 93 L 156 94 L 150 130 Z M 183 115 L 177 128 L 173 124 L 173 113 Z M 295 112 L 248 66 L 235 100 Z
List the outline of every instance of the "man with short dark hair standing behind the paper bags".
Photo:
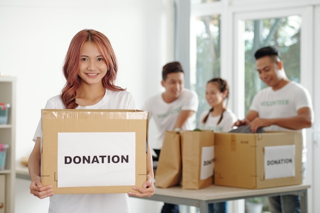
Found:
M 184 88 L 185 74 L 179 62 L 163 67 L 161 85 L 165 91 L 149 98 L 143 110 L 149 111 L 157 127 L 153 150 L 159 156 L 166 130 L 194 130 L 198 109 L 197 93 Z M 157 159 L 157 156 L 154 158 Z M 162 213 L 178 213 L 178 205 L 165 203 Z

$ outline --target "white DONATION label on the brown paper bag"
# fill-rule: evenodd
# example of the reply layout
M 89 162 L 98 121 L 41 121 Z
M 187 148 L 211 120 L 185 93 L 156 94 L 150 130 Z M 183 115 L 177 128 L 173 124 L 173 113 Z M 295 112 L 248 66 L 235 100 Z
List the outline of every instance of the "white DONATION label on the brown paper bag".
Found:
M 214 147 L 202 147 L 200 180 L 213 176 Z

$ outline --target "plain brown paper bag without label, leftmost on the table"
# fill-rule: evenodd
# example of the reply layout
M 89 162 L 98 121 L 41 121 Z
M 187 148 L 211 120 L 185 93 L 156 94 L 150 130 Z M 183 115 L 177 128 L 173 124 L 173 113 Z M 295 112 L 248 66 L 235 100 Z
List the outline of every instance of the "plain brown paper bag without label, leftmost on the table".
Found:
M 155 186 L 167 188 L 180 184 L 181 167 L 179 132 L 166 131 L 155 171 Z

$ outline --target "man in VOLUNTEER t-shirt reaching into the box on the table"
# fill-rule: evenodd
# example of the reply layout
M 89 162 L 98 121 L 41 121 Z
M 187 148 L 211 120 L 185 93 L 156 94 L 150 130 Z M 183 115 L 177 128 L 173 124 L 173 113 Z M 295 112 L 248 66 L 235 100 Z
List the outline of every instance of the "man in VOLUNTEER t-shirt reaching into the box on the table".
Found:
M 313 122 L 311 97 L 306 88 L 290 81 L 275 48 L 267 46 L 255 53 L 260 79 L 268 86 L 259 91 L 245 119 L 235 126 L 250 125 L 252 132 L 259 127 L 265 131 L 299 131 L 303 134 L 303 164 L 306 162 L 305 128 Z M 297 195 L 269 197 L 272 213 L 300 212 Z

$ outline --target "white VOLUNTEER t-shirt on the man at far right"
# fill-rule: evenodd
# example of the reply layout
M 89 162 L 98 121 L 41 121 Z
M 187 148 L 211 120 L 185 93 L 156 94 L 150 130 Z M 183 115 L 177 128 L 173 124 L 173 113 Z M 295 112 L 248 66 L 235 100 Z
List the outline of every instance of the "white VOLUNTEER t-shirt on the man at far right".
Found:
M 310 93 L 302 85 L 289 82 L 278 90 L 267 87 L 259 91 L 253 99 L 250 110 L 258 112 L 262 119 L 284 118 L 298 115 L 298 110 L 309 107 L 312 110 Z M 286 129 L 277 125 L 264 127 L 265 131 L 296 131 L 303 134 L 303 162 L 306 161 L 305 130 Z

